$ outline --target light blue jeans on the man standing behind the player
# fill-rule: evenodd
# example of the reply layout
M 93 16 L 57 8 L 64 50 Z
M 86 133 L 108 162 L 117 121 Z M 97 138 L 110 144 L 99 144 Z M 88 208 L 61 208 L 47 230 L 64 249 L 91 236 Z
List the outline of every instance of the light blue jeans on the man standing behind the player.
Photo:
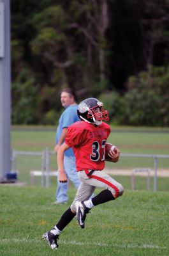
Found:
M 66 176 L 68 179 L 73 182 L 75 188 L 78 188 L 80 185 L 80 180 L 77 175 L 77 167 L 75 165 L 75 157 L 74 156 L 64 156 L 64 171 L 66 172 Z M 57 190 L 55 194 L 56 201 L 59 203 L 68 201 L 68 186 L 69 182 L 62 183 L 59 182 L 57 176 Z

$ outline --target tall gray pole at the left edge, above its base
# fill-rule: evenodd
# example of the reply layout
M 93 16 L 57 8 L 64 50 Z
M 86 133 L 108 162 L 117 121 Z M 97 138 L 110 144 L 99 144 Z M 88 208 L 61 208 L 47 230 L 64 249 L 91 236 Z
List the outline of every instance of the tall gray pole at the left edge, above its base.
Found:
M 0 0 L 0 180 L 11 171 L 10 0 Z

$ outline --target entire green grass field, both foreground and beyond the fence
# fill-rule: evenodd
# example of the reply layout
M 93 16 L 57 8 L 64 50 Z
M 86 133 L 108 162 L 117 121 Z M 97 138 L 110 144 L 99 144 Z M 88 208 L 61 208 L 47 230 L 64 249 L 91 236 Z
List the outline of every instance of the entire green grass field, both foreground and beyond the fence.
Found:
M 154 131 L 154 130 L 153 130 Z M 114 131 L 109 142 L 122 153 L 169 154 L 169 133 Z M 55 131 L 12 131 L 12 148 L 23 151 L 53 150 Z M 109 168 L 153 168 L 152 159 L 121 157 Z M 159 159 L 158 168 L 168 168 L 169 159 Z M 55 170 L 55 156 L 50 169 Z M 41 170 L 41 158 L 18 156 L 18 181 L 30 184 L 30 170 Z M 136 177 L 136 190 L 131 191 L 131 177 L 115 176 L 124 186 L 124 195 L 107 204 L 98 205 L 87 215 L 86 228 L 71 221 L 59 237 L 59 249 L 52 251 L 41 235 L 50 230 L 69 207 L 76 189 L 70 184 L 67 205 L 52 205 L 56 178 L 50 188 L 40 186 L 36 178 L 31 186 L 0 186 L 0 256 L 168 256 L 169 255 L 169 178 L 158 178 L 158 193 L 146 191 L 146 178 Z M 96 189 L 95 195 L 99 192 Z

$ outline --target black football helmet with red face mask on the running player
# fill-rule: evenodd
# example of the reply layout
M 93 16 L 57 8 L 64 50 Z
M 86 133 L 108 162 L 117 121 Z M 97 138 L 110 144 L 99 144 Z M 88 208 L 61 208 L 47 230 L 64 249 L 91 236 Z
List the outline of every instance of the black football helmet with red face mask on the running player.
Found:
M 100 125 L 102 120 L 108 121 L 108 111 L 103 109 L 103 103 L 95 98 L 88 98 L 78 104 L 78 117 L 87 123 Z

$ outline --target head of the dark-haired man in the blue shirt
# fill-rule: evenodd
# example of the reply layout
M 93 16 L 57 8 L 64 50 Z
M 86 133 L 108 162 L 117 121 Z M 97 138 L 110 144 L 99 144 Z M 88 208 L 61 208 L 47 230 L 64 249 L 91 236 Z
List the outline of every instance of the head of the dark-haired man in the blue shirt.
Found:
M 66 88 L 61 91 L 61 104 L 63 108 L 67 108 L 71 104 L 75 103 L 75 93 L 70 89 Z

